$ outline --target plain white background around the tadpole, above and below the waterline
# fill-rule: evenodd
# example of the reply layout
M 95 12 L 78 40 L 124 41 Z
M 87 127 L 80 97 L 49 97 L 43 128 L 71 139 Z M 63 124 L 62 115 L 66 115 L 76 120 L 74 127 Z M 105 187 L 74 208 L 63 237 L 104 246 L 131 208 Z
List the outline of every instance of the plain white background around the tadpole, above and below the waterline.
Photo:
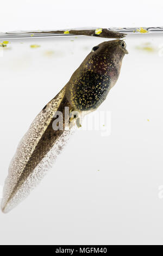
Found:
M 162 1 L 8 1 L 1 3 L 0 31 L 161 26 L 162 7 Z M 72 39 L 13 40 L 0 57 L 1 186 L 36 114 L 104 41 Z M 31 49 L 31 42 L 41 47 Z M 147 42 L 155 52 L 136 50 Z M 0 214 L 1 244 L 162 244 L 163 38 L 133 35 L 126 43 L 120 78 L 98 109 L 111 111 L 111 135 L 78 131 L 40 186 Z

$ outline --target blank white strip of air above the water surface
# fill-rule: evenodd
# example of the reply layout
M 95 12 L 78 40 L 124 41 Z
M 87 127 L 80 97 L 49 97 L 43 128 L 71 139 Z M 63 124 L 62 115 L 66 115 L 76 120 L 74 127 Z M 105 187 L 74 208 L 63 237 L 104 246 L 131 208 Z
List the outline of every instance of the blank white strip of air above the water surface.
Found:
M 2 1 L 0 31 L 162 26 L 162 9 L 163 2 L 160 0 Z

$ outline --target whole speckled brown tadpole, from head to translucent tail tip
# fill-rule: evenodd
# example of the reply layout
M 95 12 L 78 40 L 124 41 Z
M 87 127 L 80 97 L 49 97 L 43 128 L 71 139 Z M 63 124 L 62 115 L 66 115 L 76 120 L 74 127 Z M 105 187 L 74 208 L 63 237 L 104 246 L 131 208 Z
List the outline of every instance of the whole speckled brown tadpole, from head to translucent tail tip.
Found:
M 39 184 L 53 166 L 68 136 L 76 129 L 77 120 L 65 117 L 65 107 L 69 107 L 70 112 L 77 111 L 78 119 L 83 113 L 97 109 L 116 83 L 125 53 L 126 45 L 122 40 L 93 47 L 66 86 L 37 115 L 10 163 L 1 203 L 3 212 L 14 208 Z M 63 114 L 63 130 L 53 130 L 56 111 Z M 69 123 L 71 129 L 67 130 Z

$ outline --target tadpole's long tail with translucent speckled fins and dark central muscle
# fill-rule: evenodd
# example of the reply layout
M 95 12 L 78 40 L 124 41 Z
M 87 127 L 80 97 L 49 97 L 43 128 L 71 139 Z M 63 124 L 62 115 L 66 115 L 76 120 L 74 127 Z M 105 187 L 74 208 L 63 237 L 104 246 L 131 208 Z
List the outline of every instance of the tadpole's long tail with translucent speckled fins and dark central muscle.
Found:
M 37 115 L 18 144 L 3 189 L 1 209 L 4 213 L 19 204 L 39 184 L 66 144 L 73 129 L 66 130 L 65 123 L 63 130 L 55 131 L 52 127 L 55 112 L 62 111 L 65 106 L 68 102 L 64 87 Z

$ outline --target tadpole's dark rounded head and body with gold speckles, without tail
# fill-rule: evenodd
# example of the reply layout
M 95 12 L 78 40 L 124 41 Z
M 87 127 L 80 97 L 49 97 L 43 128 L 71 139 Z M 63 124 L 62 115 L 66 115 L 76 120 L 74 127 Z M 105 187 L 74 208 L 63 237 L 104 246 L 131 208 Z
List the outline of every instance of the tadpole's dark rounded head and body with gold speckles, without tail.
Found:
M 102 42 L 97 47 L 74 72 L 66 87 L 66 97 L 78 111 L 90 112 L 101 105 L 116 83 L 122 59 L 128 53 L 122 40 Z

